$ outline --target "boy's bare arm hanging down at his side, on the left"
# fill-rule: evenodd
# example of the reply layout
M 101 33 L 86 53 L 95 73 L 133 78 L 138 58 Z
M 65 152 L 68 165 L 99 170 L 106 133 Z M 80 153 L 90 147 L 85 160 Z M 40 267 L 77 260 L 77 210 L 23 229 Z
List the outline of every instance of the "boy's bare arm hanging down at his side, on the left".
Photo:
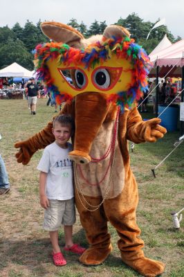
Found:
M 48 208 L 49 206 L 49 201 L 48 198 L 46 197 L 46 177 L 47 173 L 40 171 L 39 173 L 39 199 L 40 199 L 40 205 L 42 208 Z

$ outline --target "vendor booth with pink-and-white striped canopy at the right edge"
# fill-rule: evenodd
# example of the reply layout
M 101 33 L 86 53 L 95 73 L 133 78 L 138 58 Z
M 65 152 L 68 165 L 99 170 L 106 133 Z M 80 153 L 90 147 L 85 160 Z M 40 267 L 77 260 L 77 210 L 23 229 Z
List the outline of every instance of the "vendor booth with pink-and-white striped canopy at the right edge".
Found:
M 182 78 L 181 85 L 177 84 L 177 89 L 175 89 L 176 97 L 180 96 L 180 102 L 183 103 L 184 93 L 183 93 L 183 82 L 184 82 L 184 39 L 167 46 L 165 49 L 160 51 L 156 51 L 155 53 L 151 53 L 149 55 L 151 62 L 154 63 L 154 67 L 151 69 L 149 73 L 149 77 L 156 77 L 158 84 L 158 76 L 161 78 L 167 77 L 175 77 Z M 158 87 L 157 87 L 158 88 Z M 181 92 L 182 91 L 182 92 Z M 158 89 L 156 93 L 156 103 L 157 103 L 157 114 L 161 114 L 163 110 L 165 112 L 160 116 L 163 125 L 167 127 L 167 123 L 169 123 L 168 130 L 175 130 L 177 128 L 176 122 L 178 119 L 178 111 L 180 106 L 175 104 L 168 105 L 168 109 L 166 111 L 165 107 L 158 106 Z M 168 116 L 169 113 L 169 116 Z M 169 119 L 168 119 L 169 118 Z M 167 122 L 167 123 L 166 123 Z M 183 121 L 181 120 L 181 133 L 183 134 Z

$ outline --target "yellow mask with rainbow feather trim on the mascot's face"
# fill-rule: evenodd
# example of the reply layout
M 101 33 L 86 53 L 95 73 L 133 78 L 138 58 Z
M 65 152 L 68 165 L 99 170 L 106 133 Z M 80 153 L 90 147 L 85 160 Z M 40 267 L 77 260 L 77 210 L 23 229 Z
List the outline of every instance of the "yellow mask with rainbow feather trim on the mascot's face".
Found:
M 71 29 L 64 26 L 62 34 L 66 31 L 71 37 Z M 67 32 L 64 40 L 67 40 Z M 147 89 L 147 74 L 151 66 L 142 47 L 126 36 L 102 37 L 84 47 L 61 42 L 39 44 L 35 49 L 35 59 L 37 78 L 44 81 L 57 104 L 72 100 L 79 93 L 100 92 L 106 94 L 107 101 L 120 105 L 122 110 L 134 105 L 142 91 Z M 68 71 L 73 84 L 67 80 Z

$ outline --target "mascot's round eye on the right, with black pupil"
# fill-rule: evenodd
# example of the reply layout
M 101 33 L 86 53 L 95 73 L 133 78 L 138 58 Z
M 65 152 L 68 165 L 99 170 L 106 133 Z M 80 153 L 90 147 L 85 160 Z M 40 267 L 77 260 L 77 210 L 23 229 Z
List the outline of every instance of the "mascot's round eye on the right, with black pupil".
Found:
M 111 78 L 107 69 L 98 69 L 93 75 L 93 82 L 100 89 L 107 89 L 111 84 Z

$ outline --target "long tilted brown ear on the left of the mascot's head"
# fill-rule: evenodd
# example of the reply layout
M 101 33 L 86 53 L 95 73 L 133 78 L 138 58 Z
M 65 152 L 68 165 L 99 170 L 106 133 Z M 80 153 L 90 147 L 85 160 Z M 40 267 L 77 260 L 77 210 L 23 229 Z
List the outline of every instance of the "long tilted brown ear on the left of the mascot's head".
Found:
M 84 39 L 80 32 L 59 22 L 46 21 L 41 24 L 41 28 L 44 35 L 49 39 L 53 39 L 55 42 L 63 42 L 75 48 L 79 47 L 81 39 Z

